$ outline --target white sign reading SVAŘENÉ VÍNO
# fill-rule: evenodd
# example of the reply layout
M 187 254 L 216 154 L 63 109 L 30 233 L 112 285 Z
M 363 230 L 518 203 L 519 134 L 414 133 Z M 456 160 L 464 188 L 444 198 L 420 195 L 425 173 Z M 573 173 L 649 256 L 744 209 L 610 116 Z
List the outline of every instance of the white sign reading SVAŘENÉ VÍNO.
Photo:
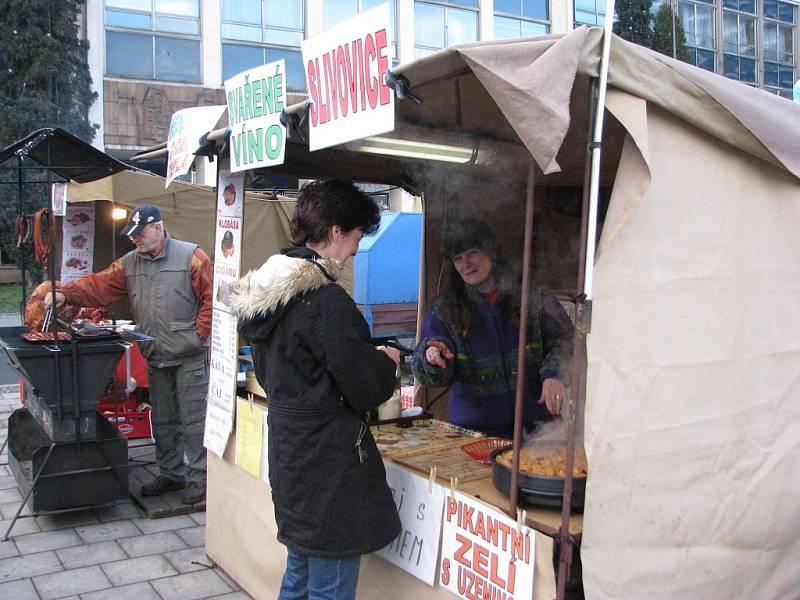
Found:
M 225 81 L 230 121 L 231 171 L 283 163 L 286 128 L 286 61 L 255 67 Z

